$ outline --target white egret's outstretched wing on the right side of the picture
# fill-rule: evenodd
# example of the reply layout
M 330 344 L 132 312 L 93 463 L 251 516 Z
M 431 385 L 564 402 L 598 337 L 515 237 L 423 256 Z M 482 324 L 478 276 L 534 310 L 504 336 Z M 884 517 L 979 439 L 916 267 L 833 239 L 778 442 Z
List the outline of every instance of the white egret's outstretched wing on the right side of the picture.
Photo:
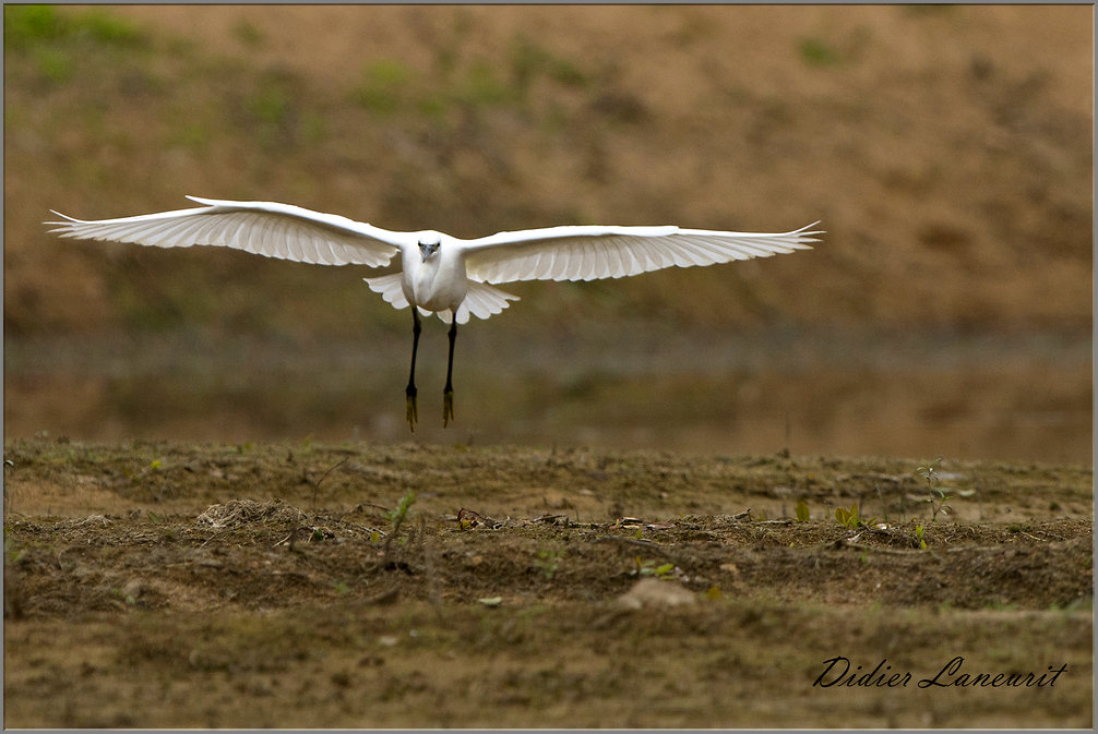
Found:
M 623 278 L 677 266 L 712 266 L 808 250 L 818 222 L 783 234 L 680 227 L 551 227 L 466 240 L 466 272 L 485 283 Z

